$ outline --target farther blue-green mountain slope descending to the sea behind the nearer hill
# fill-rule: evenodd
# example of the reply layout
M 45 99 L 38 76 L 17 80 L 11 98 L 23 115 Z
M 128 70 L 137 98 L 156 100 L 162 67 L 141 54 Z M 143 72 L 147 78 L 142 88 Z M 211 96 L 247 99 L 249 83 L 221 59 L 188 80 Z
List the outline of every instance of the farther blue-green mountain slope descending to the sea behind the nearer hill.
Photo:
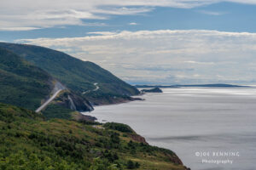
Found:
M 95 105 L 115 103 L 139 94 L 137 88 L 113 76 L 100 66 L 71 57 L 70 55 L 32 45 L 0 43 L 15 54 L 49 74 L 70 88 L 79 96 L 89 99 Z

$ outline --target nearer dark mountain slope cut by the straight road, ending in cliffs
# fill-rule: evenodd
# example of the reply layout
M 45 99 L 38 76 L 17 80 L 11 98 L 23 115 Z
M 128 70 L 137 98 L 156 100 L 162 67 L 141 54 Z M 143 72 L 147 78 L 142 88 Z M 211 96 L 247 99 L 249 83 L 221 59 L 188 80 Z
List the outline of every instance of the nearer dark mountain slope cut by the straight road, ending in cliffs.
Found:
M 45 99 L 55 93 L 58 89 L 56 87 L 60 85 L 61 83 L 46 71 L 21 59 L 9 50 L 0 48 L 0 102 L 35 111 Z M 62 117 L 65 114 L 70 116 L 72 110 L 93 110 L 88 100 L 80 98 L 72 90 L 64 87 L 51 104 L 55 105 L 56 109 L 49 111 L 46 106 L 49 117 L 53 117 L 50 115 Z M 66 112 L 63 112 L 64 110 Z

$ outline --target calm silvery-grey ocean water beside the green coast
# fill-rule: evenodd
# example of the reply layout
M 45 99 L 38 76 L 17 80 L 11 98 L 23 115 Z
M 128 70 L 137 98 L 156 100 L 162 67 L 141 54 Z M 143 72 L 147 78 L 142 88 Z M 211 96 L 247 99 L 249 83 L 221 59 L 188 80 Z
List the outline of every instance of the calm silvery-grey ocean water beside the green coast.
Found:
M 163 90 L 144 101 L 98 106 L 90 115 L 130 125 L 192 170 L 256 169 L 256 88 Z

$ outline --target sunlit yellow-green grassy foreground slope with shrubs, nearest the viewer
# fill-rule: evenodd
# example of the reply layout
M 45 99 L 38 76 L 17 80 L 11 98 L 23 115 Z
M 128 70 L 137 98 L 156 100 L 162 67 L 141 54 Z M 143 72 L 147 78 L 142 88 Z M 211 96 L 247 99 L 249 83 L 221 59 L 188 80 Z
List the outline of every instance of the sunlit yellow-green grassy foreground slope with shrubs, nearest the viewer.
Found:
M 44 121 L 32 111 L 0 104 L 0 169 L 127 169 L 128 161 L 133 168 L 140 164 L 137 169 L 185 169 L 170 161 L 177 159 L 172 151 L 132 141 L 130 127 L 117 126 Z

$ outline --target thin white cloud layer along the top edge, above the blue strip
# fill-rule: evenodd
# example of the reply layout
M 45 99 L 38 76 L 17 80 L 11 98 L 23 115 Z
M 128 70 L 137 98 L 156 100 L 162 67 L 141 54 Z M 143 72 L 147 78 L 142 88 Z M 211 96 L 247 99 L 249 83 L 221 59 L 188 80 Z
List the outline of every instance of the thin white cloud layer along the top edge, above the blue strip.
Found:
M 1 0 L 0 26 L 3 26 L 1 30 L 6 31 L 67 25 L 87 26 L 83 19 L 107 20 L 113 14 L 143 14 L 154 7 L 195 8 L 227 1 L 256 4 L 255 0 Z

